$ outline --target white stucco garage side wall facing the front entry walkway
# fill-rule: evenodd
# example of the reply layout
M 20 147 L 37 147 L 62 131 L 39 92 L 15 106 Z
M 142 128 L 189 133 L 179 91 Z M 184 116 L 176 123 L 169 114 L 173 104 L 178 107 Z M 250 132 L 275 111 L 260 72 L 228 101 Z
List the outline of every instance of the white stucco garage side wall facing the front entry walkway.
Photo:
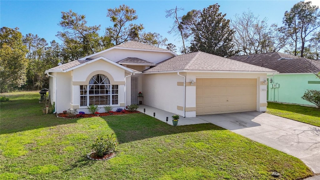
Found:
M 144 104 L 175 114 L 183 115 L 177 106 L 183 106 L 183 78 L 177 73 L 142 74 Z

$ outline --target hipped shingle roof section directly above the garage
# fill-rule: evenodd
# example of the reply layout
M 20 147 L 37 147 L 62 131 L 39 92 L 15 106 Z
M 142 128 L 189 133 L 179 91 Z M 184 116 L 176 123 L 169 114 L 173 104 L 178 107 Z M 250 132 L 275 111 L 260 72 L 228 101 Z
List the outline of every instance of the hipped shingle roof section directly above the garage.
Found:
M 144 70 L 143 72 L 177 70 L 276 72 L 275 70 L 234 61 L 204 52 L 187 53 L 174 56 L 158 63 L 155 67 Z

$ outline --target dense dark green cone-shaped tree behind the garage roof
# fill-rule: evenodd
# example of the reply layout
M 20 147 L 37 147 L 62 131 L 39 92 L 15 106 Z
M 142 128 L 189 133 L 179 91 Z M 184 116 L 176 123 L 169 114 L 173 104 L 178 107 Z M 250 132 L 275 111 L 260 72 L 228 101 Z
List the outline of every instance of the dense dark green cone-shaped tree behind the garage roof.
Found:
M 204 8 L 199 15 L 199 22 L 192 31 L 193 40 L 190 52 L 202 51 L 222 57 L 234 56 L 233 35 L 226 14 L 219 12 L 220 5 L 213 4 Z

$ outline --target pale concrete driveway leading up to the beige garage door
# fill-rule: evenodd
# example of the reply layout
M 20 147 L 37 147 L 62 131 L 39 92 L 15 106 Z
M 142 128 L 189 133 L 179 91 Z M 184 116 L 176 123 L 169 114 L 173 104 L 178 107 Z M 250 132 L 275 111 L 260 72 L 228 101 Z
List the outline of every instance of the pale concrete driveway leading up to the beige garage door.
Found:
M 320 127 L 257 111 L 197 118 L 295 156 L 320 173 Z

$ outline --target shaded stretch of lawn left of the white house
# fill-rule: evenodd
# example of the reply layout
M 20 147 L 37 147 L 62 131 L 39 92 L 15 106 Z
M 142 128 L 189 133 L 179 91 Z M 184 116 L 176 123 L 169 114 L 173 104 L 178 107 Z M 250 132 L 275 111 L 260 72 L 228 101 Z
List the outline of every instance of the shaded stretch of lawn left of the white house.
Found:
M 16 97 L 19 96 L 19 97 Z M 55 114 L 43 115 L 43 103 L 35 94 L 8 96 L 9 102 L 1 102 L 0 134 L 51 127 L 77 122 L 77 119 L 57 118 Z

